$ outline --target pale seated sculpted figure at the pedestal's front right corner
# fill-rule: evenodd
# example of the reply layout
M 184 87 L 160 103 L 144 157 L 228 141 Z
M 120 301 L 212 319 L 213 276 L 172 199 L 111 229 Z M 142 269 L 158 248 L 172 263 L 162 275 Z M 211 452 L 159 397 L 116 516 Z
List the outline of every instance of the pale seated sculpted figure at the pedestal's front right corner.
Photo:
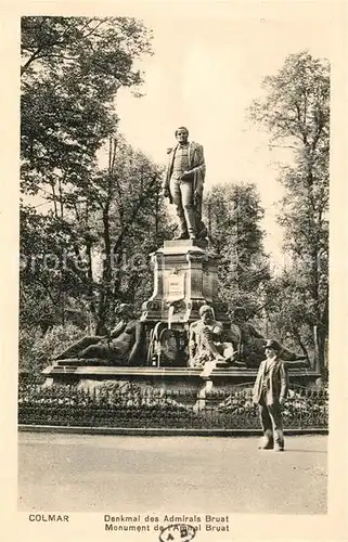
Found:
M 221 322 L 214 318 L 208 305 L 199 309 L 201 320 L 190 326 L 189 366 L 202 367 L 202 377 L 208 377 L 217 363 L 233 362 L 235 349 L 232 341 L 225 340 Z

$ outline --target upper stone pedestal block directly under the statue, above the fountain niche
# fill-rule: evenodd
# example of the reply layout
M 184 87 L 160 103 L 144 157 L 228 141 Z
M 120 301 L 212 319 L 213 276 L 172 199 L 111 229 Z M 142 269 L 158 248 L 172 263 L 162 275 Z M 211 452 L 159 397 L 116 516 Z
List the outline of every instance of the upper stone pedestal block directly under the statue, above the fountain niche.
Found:
M 218 297 L 218 258 L 205 241 L 165 241 L 152 254 L 154 291 L 143 304 L 141 320 L 152 327 L 163 322 L 173 330 L 189 330 L 208 304 L 216 320 L 230 325 L 228 307 Z

